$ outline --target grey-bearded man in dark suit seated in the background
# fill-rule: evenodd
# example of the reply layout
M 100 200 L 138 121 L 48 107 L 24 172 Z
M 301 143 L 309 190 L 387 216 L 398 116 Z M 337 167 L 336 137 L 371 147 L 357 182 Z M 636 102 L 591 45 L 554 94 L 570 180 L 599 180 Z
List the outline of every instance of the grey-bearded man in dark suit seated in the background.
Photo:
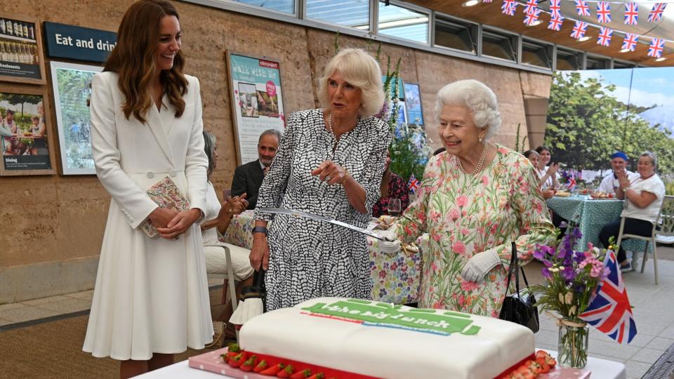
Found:
M 258 190 L 269 170 L 276 152 L 279 150 L 281 132 L 276 129 L 267 129 L 260 134 L 258 140 L 258 159 L 242 164 L 234 171 L 232 180 L 232 196 L 246 193 L 248 209 L 255 209 L 258 204 Z

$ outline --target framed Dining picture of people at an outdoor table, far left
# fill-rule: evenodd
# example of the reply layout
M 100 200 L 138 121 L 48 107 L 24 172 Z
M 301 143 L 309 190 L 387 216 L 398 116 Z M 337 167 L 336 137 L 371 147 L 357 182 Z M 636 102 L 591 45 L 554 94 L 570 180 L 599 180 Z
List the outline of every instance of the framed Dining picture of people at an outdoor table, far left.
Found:
M 7 87 L 0 92 L 0 175 L 55 173 L 46 92 Z

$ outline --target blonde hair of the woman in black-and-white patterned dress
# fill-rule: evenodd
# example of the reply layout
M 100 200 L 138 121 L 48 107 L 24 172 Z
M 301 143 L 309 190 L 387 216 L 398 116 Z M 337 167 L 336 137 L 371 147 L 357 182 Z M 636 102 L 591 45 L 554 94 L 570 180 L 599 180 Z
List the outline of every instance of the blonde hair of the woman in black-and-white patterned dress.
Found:
M 360 48 L 345 48 L 325 66 L 318 90 L 322 107 L 330 107 L 328 79 L 337 71 L 345 81 L 362 91 L 362 102 L 358 109 L 360 117 L 371 117 L 381 110 L 384 105 L 381 69 L 377 61 Z

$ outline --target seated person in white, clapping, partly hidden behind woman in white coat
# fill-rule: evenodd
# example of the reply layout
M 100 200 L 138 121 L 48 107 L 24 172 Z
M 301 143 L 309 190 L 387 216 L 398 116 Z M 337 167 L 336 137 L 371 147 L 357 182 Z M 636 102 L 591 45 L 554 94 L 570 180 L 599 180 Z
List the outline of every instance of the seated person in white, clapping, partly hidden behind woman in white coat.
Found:
M 249 261 L 251 253 L 247 248 L 234 246 L 232 244 L 225 244 L 220 242 L 218 237 L 224 234 L 227 227 L 230 225 L 232 215 L 242 213 L 248 201 L 246 201 L 246 194 L 227 199 L 223 204 L 218 201 L 218 195 L 213 188 L 210 178 L 213 170 L 216 168 L 216 160 L 218 159 L 218 152 L 216 152 L 215 138 L 209 132 L 204 131 L 204 149 L 206 150 L 206 157 L 209 157 L 209 186 L 206 188 L 206 215 L 204 222 L 201 223 L 201 237 L 204 240 L 204 256 L 206 258 L 206 272 L 208 274 L 227 274 L 227 259 L 225 258 L 225 251 L 223 246 L 230 249 L 230 256 L 232 258 L 232 271 L 234 272 L 234 280 L 239 281 L 237 285 L 237 298 L 241 292 L 242 286 L 251 286 L 253 284 L 253 267 Z M 227 283 L 227 281 L 225 281 Z M 223 288 L 223 299 L 226 298 L 227 286 Z M 224 300 L 223 300 L 224 302 Z M 226 321 L 232 316 L 232 305 L 227 302 L 225 311 L 216 317 L 218 321 Z M 227 335 L 234 335 L 234 329 L 230 327 L 230 333 Z

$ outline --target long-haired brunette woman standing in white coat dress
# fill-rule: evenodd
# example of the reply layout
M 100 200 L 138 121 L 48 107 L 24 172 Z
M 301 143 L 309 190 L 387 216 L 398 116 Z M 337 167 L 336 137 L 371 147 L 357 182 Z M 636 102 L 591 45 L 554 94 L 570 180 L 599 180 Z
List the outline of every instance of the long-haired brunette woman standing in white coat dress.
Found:
M 197 220 L 206 211 L 199 81 L 183 74 L 178 13 L 141 0 L 121 20 L 117 46 L 92 81 L 91 145 L 112 196 L 84 351 L 121 361 L 122 378 L 166 366 L 213 339 Z M 190 201 L 158 208 L 145 190 L 169 177 Z M 140 230 L 146 219 L 159 237 Z

